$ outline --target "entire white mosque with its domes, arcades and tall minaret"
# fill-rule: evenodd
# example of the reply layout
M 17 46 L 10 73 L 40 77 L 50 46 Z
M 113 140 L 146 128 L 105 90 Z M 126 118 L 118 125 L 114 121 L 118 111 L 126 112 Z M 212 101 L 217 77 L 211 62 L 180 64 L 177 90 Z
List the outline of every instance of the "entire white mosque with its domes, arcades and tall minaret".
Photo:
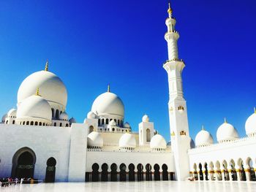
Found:
M 18 89 L 17 109 L 0 123 L 0 177 L 54 181 L 256 180 L 256 111 L 245 123 L 247 137 L 225 120 L 217 143 L 202 128 L 189 137 L 187 105 L 178 58 L 178 32 L 167 10 L 170 141 L 157 134 L 147 115 L 138 132 L 124 123 L 124 103 L 110 91 L 93 102 L 83 123 L 66 112 L 64 82 L 48 70 L 26 77 Z M 137 131 L 137 130 L 136 130 Z M 255 168 L 254 168 L 255 167 Z

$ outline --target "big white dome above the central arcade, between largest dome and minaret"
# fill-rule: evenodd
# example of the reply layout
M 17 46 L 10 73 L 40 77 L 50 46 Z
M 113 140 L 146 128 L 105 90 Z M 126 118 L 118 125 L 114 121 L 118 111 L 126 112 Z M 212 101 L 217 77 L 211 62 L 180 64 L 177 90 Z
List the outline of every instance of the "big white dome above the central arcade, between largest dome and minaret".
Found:
M 91 111 L 97 115 L 118 115 L 124 118 L 123 101 L 114 93 L 102 93 L 94 100 Z

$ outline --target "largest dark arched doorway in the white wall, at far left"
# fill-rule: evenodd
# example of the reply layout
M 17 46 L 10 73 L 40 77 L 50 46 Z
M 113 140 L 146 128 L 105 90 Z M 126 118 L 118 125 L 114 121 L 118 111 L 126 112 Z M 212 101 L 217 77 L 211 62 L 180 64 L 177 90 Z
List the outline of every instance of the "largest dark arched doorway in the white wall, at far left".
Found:
M 12 177 L 32 178 L 34 177 L 34 164 L 36 155 L 29 147 L 18 150 L 12 158 Z

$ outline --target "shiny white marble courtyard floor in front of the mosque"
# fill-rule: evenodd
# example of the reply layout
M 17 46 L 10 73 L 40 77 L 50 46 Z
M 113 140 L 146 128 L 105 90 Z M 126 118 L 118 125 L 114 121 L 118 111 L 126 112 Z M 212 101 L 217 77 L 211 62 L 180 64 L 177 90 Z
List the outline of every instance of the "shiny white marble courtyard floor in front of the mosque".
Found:
M 160 182 L 119 182 L 119 183 L 40 183 L 40 184 L 23 184 L 12 185 L 7 188 L 0 188 L 0 191 L 50 191 L 50 192 L 76 192 L 76 191 L 182 191 L 182 192 L 255 192 L 256 182 L 177 182 L 177 181 L 160 181 Z

